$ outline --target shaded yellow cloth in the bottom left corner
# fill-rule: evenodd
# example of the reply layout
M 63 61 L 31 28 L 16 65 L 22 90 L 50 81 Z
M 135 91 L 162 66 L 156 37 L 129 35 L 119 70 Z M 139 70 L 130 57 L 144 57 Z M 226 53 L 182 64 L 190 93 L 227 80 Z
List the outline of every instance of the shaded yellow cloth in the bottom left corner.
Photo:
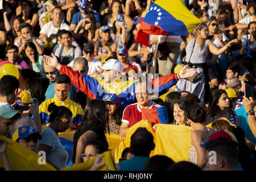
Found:
M 11 168 L 15 171 L 55 171 L 51 164 L 43 164 L 43 159 L 38 154 L 24 147 L 18 142 L 0 136 L 0 140 L 5 139 L 7 144 L 7 157 Z M 40 163 L 40 164 L 39 164 Z M 0 167 L 4 168 L 2 157 L 0 155 Z

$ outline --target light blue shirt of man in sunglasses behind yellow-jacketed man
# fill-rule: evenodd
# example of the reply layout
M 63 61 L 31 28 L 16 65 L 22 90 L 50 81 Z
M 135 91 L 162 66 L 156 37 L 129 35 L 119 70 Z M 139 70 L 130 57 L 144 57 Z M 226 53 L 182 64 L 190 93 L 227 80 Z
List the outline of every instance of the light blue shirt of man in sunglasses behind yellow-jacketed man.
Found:
M 50 81 L 49 86 L 46 90 L 46 93 L 44 94 L 44 100 L 46 101 L 49 98 L 53 98 L 55 95 L 55 89 L 54 89 L 55 82 Z M 76 102 L 76 88 L 71 84 L 71 90 L 68 93 L 69 99 Z

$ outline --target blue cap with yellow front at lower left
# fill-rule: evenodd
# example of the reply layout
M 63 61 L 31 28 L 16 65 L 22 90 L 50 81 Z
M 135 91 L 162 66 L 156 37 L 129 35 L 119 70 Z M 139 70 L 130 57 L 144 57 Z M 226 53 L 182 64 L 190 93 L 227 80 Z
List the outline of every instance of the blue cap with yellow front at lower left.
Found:
M 17 139 L 24 139 L 28 136 L 35 134 L 38 139 L 42 139 L 41 135 L 36 132 L 36 130 L 30 126 L 22 126 L 16 129 L 13 133 L 13 140 L 16 141 Z

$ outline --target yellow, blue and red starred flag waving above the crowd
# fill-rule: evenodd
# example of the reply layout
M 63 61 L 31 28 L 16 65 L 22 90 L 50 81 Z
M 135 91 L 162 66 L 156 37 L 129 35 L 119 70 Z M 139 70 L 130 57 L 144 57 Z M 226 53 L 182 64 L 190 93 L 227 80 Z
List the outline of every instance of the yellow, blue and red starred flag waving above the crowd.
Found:
M 156 0 L 142 20 L 135 40 L 149 46 L 149 35 L 187 35 L 201 20 L 182 0 Z

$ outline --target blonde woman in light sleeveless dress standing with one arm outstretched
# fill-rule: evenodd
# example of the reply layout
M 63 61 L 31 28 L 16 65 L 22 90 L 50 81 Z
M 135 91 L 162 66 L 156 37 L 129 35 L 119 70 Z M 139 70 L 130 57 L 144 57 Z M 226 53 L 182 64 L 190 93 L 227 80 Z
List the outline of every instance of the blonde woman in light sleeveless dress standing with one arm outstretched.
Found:
M 199 23 L 195 26 L 191 38 L 188 40 L 188 45 L 185 49 L 187 56 L 185 57 L 184 64 L 196 68 L 196 72 L 201 76 L 201 79 L 196 82 L 191 82 L 186 79 L 180 79 L 177 81 L 175 91 L 182 92 L 188 91 L 196 94 L 201 101 L 201 105 L 204 106 L 204 67 L 205 60 L 208 53 L 211 52 L 213 55 L 220 55 L 225 52 L 233 44 L 237 44 L 238 40 L 234 39 L 228 42 L 224 47 L 218 49 L 214 44 L 207 39 L 208 38 L 208 27 L 205 23 Z

